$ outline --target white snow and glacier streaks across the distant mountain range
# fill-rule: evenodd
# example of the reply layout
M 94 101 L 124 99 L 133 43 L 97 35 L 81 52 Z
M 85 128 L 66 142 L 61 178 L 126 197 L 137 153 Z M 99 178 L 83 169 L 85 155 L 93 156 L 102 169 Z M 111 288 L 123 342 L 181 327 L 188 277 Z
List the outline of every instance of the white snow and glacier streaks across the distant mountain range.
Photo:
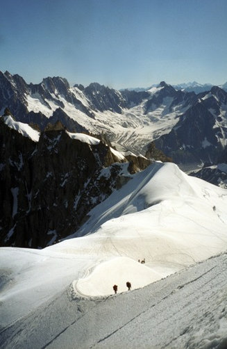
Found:
M 151 96 L 161 89 L 162 87 L 151 88 Z M 78 88 L 70 88 L 70 90 L 86 108 L 90 108 L 89 101 Z M 145 149 L 146 145 L 151 143 L 151 140 L 169 133 L 178 122 L 180 115 L 189 108 L 189 106 L 183 108 L 183 106 L 178 105 L 170 110 L 169 106 L 171 106 L 173 99 L 167 97 L 161 106 L 157 108 L 153 105 L 153 109 L 144 114 L 147 102 L 147 99 L 144 99 L 144 102 L 139 106 L 122 109 L 121 113 L 93 111 L 94 118 L 92 118 L 87 117 L 83 111 L 78 109 L 78 106 L 67 102 L 62 95 L 56 96 L 53 94 L 52 97 L 56 99 L 56 103 L 54 99 L 42 100 L 39 94 L 27 95 L 28 111 L 41 111 L 44 115 L 50 117 L 53 115 L 53 111 L 59 107 L 57 102 L 60 101 L 64 104 L 63 111 L 85 127 L 87 131 L 93 134 L 106 133 L 112 144 L 117 145 L 118 150 L 131 150 L 136 154 L 141 152 L 141 149 Z

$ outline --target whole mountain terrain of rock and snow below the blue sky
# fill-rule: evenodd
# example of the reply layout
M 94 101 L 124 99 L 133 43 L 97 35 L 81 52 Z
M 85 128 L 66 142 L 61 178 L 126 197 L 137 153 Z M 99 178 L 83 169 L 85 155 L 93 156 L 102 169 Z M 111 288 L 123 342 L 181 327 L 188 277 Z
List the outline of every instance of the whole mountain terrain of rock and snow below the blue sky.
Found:
M 227 92 L 0 72 L 0 109 L 0 347 L 226 348 Z

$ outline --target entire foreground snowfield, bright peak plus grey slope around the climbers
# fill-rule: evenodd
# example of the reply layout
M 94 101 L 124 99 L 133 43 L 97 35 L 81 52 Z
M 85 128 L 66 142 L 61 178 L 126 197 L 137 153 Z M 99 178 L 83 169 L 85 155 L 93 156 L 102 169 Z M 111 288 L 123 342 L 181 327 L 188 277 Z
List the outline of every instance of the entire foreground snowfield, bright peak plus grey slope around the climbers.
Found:
M 1 247 L 1 348 L 227 343 L 226 203 L 227 190 L 154 163 L 90 211 L 81 237 Z

